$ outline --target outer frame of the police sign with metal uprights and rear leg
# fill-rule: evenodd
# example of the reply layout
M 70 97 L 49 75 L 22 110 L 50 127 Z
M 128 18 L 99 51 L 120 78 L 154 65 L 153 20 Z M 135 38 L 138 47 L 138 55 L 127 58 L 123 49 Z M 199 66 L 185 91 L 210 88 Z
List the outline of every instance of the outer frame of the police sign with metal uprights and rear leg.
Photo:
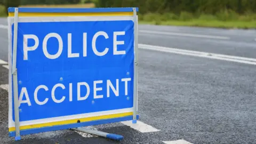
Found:
M 111 16 L 111 15 L 118 15 L 118 16 L 132 16 L 133 22 L 134 22 L 134 79 L 133 79 L 133 112 L 132 116 L 124 116 L 119 118 L 109 118 L 109 119 L 103 119 L 101 121 L 89 121 L 84 123 L 72 123 L 68 125 L 54 125 L 54 126 L 48 126 L 48 127 L 41 127 L 40 129 L 20 129 L 20 121 L 19 121 L 19 98 L 18 98 L 18 78 L 17 74 L 19 73 L 19 69 L 16 67 L 17 63 L 17 41 L 18 41 L 18 27 L 19 27 L 19 17 L 27 17 L 29 13 L 34 13 L 34 17 L 36 17 L 36 14 L 44 15 L 44 17 L 49 16 L 47 12 L 53 12 L 53 13 L 80 13 L 80 15 L 83 15 L 86 13 L 105 13 L 103 15 Z M 74 129 L 74 130 L 80 130 L 84 132 L 92 132 L 90 130 L 82 130 L 76 127 L 81 126 L 87 126 L 87 125 L 95 125 L 95 124 L 106 124 L 106 123 L 113 123 L 113 122 L 121 122 L 121 121 L 129 121 L 132 120 L 132 123 L 137 123 L 137 119 L 139 116 L 137 115 L 138 111 L 138 15 L 137 15 L 138 7 L 124 7 L 124 8 L 90 8 L 90 9 L 44 9 L 44 8 L 18 8 L 18 7 L 10 7 L 9 8 L 9 104 L 12 103 L 12 98 L 14 98 L 14 114 L 15 114 L 15 131 L 10 130 L 10 123 L 12 116 L 10 113 L 12 113 L 12 106 L 9 105 L 9 136 L 15 137 L 15 140 L 20 140 L 20 135 L 26 135 L 26 134 L 33 134 L 38 132 L 47 132 L 47 131 L 55 131 L 55 130 L 63 130 L 63 129 Z M 126 15 L 125 15 L 126 13 Z M 12 36 L 12 20 L 14 18 L 14 31 Z M 13 37 L 13 39 L 12 39 Z M 12 41 L 13 40 L 13 41 Z M 97 134 L 97 132 L 96 132 Z M 98 132 L 99 134 L 99 132 Z M 100 132 L 101 136 L 105 136 L 112 138 L 113 134 L 103 133 Z M 114 135 L 115 136 L 115 135 Z M 113 139 L 122 139 L 119 135 Z

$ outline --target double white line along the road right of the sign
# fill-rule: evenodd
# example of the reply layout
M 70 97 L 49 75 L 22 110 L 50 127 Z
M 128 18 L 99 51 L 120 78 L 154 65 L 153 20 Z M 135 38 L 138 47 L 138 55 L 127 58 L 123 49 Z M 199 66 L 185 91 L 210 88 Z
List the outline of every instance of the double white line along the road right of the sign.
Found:
M 146 45 L 146 44 L 139 44 L 139 48 L 146 49 L 146 50 L 177 53 L 177 54 L 183 54 L 183 55 L 192 55 L 195 57 L 226 60 L 226 61 L 233 61 L 233 62 L 239 62 L 239 63 L 246 63 L 246 64 L 250 64 L 250 65 L 256 65 L 256 59 L 245 58 L 245 57 L 236 57 L 233 55 L 181 50 L 181 49 L 172 48 L 172 47 L 154 46 L 154 45 Z

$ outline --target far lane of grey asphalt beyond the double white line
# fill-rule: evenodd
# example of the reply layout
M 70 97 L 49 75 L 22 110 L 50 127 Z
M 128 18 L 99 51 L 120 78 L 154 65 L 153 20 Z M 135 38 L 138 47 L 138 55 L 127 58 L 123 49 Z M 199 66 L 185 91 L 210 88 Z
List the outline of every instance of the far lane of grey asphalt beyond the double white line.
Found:
M 197 34 L 230 37 L 226 39 L 198 38 L 162 34 L 139 33 L 142 44 L 174 47 L 178 49 L 203 51 L 240 57 L 256 58 L 256 30 L 189 28 L 140 25 L 139 30 L 163 31 L 181 34 Z

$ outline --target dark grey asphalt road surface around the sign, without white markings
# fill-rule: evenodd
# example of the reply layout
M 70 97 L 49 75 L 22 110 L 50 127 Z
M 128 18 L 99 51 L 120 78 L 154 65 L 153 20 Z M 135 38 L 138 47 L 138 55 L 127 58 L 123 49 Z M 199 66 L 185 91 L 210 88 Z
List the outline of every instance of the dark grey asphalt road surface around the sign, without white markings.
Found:
M 140 34 L 140 44 L 252 58 L 256 53 L 253 37 L 253 33 L 256 33 L 253 30 L 148 25 L 140 25 L 139 29 L 177 30 L 179 33 L 240 39 Z M 8 46 L 6 34 L 7 30 L 0 28 L 0 59 L 5 61 Z M 241 46 L 237 43 L 241 43 Z M 0 66 L 0 84 L 8 84 L 7 73 L 7 69 Z M 253 65 L 140 49 L 140 121 L 161 131 L 141 133 L 121 123 L 114 123 L 95 127 L 123 135 L 121 142 L 100 137 L 84 138 L 69 130 L 27 135 L 21 141 L 14 142 L 13 138 L 8 137 L 7 130 L 8 94 L 0 88 L 0 143 L 163 143 L 178 139 L 200 144 L 256 143 L 255 74 L 256 67 Z

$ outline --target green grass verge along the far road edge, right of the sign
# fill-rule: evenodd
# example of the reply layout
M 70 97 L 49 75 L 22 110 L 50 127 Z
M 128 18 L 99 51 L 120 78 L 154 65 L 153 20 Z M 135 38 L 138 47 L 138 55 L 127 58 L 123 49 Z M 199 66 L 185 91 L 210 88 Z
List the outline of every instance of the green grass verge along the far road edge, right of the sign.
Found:
M 139 15 L 139 23 L 170 26 L 255 29 L 256 14 L 247 13 L 238 15 L 234 11 L 222 11 L 216 15 L 191 14 L 188 12 L 181 12 L 179 15 L 173 13 L 148 13 Z

